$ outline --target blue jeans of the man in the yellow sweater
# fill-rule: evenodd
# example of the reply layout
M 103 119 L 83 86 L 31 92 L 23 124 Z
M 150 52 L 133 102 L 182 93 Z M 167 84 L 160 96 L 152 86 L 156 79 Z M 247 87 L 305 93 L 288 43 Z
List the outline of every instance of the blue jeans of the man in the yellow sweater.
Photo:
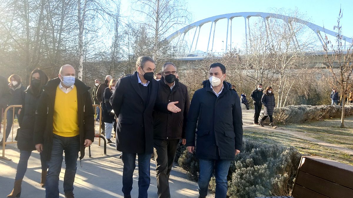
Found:
M 44 148 L 45 149 L 45 148 Z M 80 138 L 61 137 L 54 134 L 53 148 L 48 164 L 48 174 L 46 181 L 46 197 L 59 198 L 59 175 L 62 165 L 62 152 L 65 151 L 65 175 L 64 192 L 73 191 L 73 182 L 75 180 L 77 169 L 78 151 L 80 151 Z

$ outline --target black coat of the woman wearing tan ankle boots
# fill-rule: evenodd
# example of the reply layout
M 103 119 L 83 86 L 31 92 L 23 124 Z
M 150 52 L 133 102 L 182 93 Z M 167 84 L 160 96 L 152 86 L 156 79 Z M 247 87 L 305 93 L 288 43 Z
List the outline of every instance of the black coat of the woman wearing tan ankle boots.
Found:
M 23 92 L 22 110 L 19 116 L 20 128 L 17 131 L 17 147 L 20 150 L 36 150 L 34 144 L 34 123 L 36 108 L 40 94 L 34 94 L 30 89 Z

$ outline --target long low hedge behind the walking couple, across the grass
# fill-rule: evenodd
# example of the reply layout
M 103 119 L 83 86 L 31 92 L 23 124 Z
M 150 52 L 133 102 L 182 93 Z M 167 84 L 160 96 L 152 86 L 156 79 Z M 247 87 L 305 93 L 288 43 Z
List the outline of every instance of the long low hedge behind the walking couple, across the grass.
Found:
M 353 115 L 353 105 L 345 106 L 346 116 Z M 275 123 L 305 123 L 328 118 L 340 118 L 342 106 L 339 105 L 290 105 L 274 109 Z M 263 113 L 262 116 L 263 117 Z

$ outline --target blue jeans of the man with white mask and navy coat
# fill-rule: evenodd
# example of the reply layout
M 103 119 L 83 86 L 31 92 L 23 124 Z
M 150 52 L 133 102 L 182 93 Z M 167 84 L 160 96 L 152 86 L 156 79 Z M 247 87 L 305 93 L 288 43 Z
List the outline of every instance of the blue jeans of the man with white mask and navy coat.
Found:
M 215 166 L 216 193 L 215 198 L 227 197 L 227 175 L 231 160 L 203 160 L 199 159 L 200 172 L 198 179 L 198 190 L 201 197 L 207 196 L 208 185 Z

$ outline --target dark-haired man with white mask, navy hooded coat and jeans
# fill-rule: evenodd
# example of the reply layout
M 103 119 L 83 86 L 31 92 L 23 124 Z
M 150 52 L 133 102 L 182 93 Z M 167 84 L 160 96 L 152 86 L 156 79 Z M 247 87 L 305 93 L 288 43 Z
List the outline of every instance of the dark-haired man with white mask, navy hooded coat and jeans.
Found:
M 209 80 L 192 97 L 186 124 L 186 146 L 195 150 L 199 159 L 199 198 L 207 196 L 208 185 L 215 168 L 216 197 L 227 196 L 227 175 L 231 161 L 240 153 L 243 121 L 240 99 L 232 85 L 225 81 L 226 67 L 221 63 L 210 66 Z

